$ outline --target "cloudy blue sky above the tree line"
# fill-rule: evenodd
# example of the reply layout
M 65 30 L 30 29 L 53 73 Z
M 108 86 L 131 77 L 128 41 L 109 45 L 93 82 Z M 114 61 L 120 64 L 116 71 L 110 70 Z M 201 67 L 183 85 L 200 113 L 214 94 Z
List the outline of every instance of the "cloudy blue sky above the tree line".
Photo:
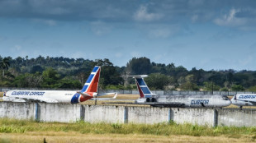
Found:
M 256 1 L 0 0 L 0 55 L 256 71 Z

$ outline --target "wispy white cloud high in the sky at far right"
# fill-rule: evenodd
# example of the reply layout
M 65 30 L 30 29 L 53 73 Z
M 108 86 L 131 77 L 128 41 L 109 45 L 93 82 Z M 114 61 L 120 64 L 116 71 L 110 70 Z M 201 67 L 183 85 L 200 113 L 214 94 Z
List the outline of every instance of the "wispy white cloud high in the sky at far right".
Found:
M 221 26 L 239 26 L 246 24 L 246 20 L 244 18 L 238 18 L 235 16 L 237 12 L 240 12 L 240 10 L 232 8 L 228 14 L 223 15 L 221 18 L 216 18 L 214 22 L 216 25 Z

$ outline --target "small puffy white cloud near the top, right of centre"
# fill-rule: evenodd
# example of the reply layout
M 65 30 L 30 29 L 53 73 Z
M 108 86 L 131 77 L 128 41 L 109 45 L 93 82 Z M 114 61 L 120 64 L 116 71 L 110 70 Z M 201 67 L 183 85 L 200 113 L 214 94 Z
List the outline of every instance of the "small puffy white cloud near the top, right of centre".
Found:
M 141 6 L 134 15 L 134 19 L 136 21 L 157 21 L 162 17 L 163 15 L 158 13 L 149 13 L 147 7 L 145 6 Z

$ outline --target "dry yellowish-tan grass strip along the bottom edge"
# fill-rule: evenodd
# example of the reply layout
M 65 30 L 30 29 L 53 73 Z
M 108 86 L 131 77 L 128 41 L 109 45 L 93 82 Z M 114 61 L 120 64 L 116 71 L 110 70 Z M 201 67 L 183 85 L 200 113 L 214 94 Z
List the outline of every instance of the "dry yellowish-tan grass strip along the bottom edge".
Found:
M 77 132 L 27 132 L 18 133 L 0 133 L 0 142 L 254 142 L 248 136 L 240 138 L 230 138 L 228 136 L 154 136 L 138 134 L 81 134 Z

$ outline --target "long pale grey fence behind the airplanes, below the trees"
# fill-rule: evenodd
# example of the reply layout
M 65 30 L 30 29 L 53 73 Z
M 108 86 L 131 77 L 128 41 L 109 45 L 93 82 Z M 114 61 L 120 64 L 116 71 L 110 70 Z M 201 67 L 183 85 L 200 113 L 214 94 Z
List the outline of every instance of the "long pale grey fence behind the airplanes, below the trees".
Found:
M 41 88 L 14 88 L 14 87 L 0 87 L 0 92 L 7 90 L 79 90 L 79 89 L 41 89 Z M 227 95 L 233 96 L 236 94 L 256 94 L 250 91 L 178 91 L 178 90 L 151 90 L 155 95 Z M 118 93 L 126 95 L 139 95 L 138 90 L 99 90 L 103 93 Z

